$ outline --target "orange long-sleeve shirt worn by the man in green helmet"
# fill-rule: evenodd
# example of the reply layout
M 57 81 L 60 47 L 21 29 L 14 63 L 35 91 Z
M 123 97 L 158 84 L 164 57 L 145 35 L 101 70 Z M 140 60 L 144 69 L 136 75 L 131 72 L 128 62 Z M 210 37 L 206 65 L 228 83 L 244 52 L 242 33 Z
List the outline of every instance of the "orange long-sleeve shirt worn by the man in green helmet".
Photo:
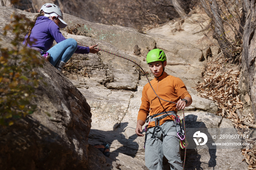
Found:
M 177 103 L 178 100 L 189 97 L 192 101 L 191 95 L 188 93 L 184 82 L 180 78 L 163 73 L 161 77 L 158 79 L 154 78 L 150 83 L 157 95 L 164 100 Z M 144 86 L 141 98 L 142 104 L 140 105 L 137 120 L 143 120 L 145 122 L 148 115 L 152 116 L 167 111 L 177 112 L 176 104 L 159 99 L 153 89 L 150 87 L 149 83 Z M 172 117 L 169 116 L 161 119 L 160 125 L 170 119 L 172 119 Z M 154 126 L 155 122 L 152 121 L 148 125 L 148 128 Z

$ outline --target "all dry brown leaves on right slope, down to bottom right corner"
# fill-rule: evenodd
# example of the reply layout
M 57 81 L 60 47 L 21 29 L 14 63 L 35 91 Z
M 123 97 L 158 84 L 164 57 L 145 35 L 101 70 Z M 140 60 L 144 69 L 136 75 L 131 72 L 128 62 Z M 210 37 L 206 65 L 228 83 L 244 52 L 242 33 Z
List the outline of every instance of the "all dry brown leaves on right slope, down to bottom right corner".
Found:
M 226 61 L 220 61 L 220 59 L 208 62 L 203 76 L 204 82 L 195 89 L 200 97 L 208 98 L 218 105 L 217 115 L 230 119 L 235 128 L 241 128 L 238 134 L 248 134 L 248 138 L 243 142 L 250 143 L 252 148 L 249 149 L 247 146 L 242 150 L 242 155 L 245 158 L 243 161 L 248 163 L 249 170 L 256 170 L 256 138 L 250 138 L 253 131 L 243 124 L 244 121 L 253 124 L 253 113 L 249 113 L 247 116 L 242 116 L 241 113 L 237 114 L 237 109 L 243 109 L 238 92 L 240 72 L 226 69 L 223 66 L 225 63 Z

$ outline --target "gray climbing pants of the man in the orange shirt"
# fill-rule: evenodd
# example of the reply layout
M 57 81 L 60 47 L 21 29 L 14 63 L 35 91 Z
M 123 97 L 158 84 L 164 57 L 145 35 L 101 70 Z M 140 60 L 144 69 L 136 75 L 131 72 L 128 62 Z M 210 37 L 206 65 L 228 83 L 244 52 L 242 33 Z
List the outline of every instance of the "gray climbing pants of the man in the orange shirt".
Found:
M 166 134 L 155 129 L 155 138 L 151 138 L 154 127 L 147 131 L 145 145 L 145 164 L 149 170 L 163 169 L 163 156 L 170 163 L 171 170 L 182 170 L 180 157 L 180 140 L 178 139 L 174 121 L 166 121 L 160 126 Z

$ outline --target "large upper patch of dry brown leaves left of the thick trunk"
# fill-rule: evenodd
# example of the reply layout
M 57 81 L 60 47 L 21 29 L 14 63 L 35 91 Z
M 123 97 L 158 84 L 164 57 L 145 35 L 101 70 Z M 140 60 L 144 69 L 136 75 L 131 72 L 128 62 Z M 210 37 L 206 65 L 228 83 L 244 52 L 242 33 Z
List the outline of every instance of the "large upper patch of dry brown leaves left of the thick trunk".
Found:
M 218 105 L 217 115 L 224 116 L 233 122 L 236 128 L 248 128 L 243 125 L 243 121 L 252 123 L 252 115 L 238 117 L 235 113 L 237 109 L 243 109 L 243 103 L 240 100 L 238 92 L 238 82 L 240 72 L 238 70 L 223 67 L 219 59 L 208 62 L 205 70 L 203 83 L 200 83 L 195 89 L 200 97 L 208 98 Z

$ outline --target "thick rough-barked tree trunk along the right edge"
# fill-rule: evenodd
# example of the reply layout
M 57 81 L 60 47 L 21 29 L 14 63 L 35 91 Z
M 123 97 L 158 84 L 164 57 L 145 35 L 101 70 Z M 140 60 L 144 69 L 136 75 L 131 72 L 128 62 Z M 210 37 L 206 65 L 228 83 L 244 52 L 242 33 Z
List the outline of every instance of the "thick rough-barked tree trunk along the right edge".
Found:
M 252 109 L 253 113 L 256 113 L 256 52 L 255 52 L 255 14 L 256 8 L 254 3 L 251 1 L 246 1 L 247 5 L 247 15 L 246 23 L 244 26 L 244 37 L 243 37 L 243 53 L 242 53 L 242 71 L 244 75 L 244 83 L 246 85 L 247 92 L 252 100 Z M 241 83 L 242 84 L 242 83 Z M 254 118 L 256 118 L 256 114 L 254 114 Z

